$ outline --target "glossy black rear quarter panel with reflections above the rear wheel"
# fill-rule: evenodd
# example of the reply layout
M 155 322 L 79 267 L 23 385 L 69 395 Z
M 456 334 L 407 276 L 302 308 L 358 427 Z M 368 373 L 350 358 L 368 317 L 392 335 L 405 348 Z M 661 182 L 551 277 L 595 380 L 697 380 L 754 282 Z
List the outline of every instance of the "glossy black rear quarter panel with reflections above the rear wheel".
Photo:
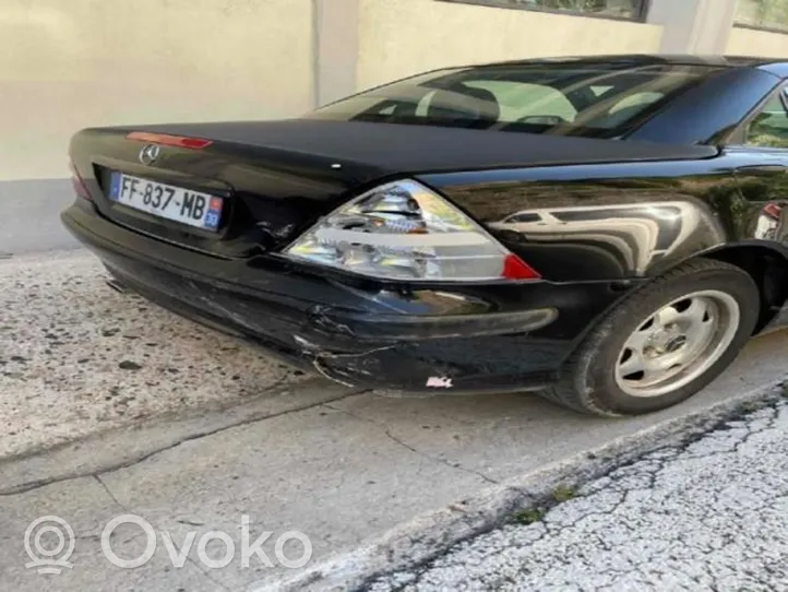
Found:
M 763 244 L 788 256 L 788 229 L 761 232 L 765 204 L 742 192 L 736 176 L 741 158 L 721 154 L 421 180 L 485 224 L 545 279 L 617 281 L 658 275 L 738 244 Z

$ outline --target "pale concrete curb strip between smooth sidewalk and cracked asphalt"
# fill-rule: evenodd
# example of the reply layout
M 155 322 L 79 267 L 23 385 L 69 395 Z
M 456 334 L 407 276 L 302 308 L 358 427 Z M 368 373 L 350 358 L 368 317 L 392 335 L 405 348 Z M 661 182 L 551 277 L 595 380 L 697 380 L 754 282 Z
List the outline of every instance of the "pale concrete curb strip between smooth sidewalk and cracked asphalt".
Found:
M 449 547 L 490 531 L 518 509 L 550 498 L 558 486 L 576 487 L 666 446 L 676 446 L 704 434 L 731 417 L 786 396 L 788 375 L 747 393 L 637 434 L 576 454 L 500 485 L 486 488 L 443 509 L 399 524 L 360 547 L 320 561 L 288 578 L 256 582 L 251 592 L 358 590 L 372 579 L 423 564 Z

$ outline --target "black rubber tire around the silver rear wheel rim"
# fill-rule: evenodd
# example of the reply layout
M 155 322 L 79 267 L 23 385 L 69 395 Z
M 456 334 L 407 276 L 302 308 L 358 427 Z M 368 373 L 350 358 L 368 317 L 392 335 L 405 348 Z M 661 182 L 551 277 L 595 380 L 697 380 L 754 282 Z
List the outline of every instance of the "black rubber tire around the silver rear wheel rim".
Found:
M 658 396 L 633 396 L 619 388 L 616 365 L 630 335 L 648 315 L 697 291 L 718 291 L 739 305 L 736 335 L 727 350 L 691 382 Z M 673 406 L 706 387 L 739 355 L 760 316 L 760 291 L 741 268 L 712 259 L 696 259 L 636 289 L 589 332 L 566 360 L 559 381 L 542 396 L 599 416 L 641 415 Z

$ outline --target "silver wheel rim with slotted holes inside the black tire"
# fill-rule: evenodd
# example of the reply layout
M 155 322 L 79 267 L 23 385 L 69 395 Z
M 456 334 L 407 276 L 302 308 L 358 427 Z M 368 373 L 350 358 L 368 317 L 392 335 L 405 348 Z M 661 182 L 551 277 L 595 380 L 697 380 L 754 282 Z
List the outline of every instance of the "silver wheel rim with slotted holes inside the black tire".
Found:
M 660 396 L 708 370 L 736 338 L 739 303 L 707 289 L 677 298 L 647 317 L 626 339 L 616 383 L 632 396 Z

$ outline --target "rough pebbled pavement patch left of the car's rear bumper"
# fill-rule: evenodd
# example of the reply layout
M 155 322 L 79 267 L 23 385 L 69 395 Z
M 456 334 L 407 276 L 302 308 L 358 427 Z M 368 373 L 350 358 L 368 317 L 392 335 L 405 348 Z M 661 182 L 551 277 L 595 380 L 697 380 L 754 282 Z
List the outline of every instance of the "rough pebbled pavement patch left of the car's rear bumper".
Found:
M 307 378 L 105 276 L 83 250 L 0 260 L 0 460 Z

